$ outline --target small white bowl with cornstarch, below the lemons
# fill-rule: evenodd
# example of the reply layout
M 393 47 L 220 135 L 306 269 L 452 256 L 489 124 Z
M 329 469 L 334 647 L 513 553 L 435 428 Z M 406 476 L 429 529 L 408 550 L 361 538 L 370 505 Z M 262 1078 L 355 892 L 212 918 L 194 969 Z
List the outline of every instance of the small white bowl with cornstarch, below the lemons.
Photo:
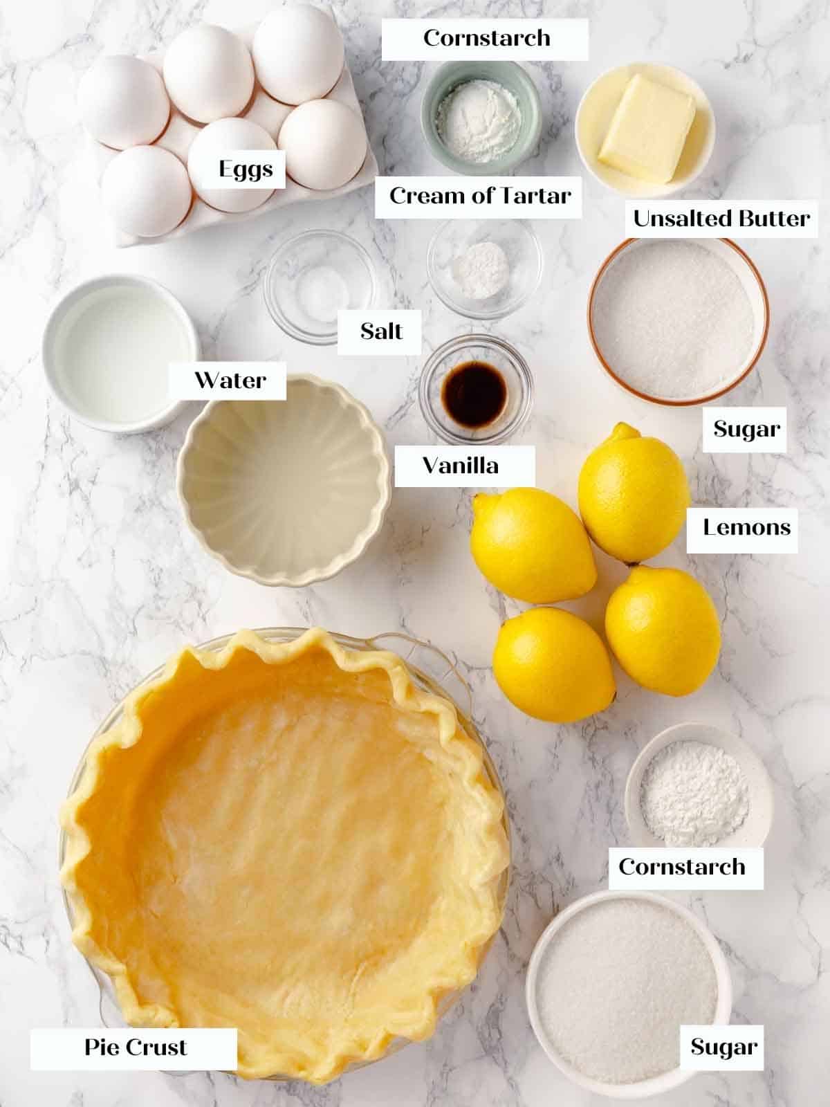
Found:
M 625 784 L 625 820 L 637 847 L 762 846 L 772 783 L 748 742 L 708 723 L 678 723 L 641 751 Z

